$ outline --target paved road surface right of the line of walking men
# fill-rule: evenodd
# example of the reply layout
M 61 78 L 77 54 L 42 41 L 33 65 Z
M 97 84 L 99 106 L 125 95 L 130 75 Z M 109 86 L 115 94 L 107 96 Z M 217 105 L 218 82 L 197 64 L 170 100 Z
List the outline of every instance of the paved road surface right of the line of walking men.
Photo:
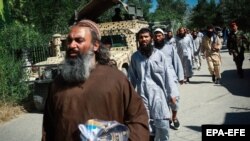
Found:
M 195 70 L 190 84 L 180 86 L 179 130 L 170 141 L 201 141 L 203 124 L 250 124 L 250 54 L 245 54 L 245 78 L 239 79 L 232 56 L 222 50 L 221 85 L 212 83 L 206 61 Z

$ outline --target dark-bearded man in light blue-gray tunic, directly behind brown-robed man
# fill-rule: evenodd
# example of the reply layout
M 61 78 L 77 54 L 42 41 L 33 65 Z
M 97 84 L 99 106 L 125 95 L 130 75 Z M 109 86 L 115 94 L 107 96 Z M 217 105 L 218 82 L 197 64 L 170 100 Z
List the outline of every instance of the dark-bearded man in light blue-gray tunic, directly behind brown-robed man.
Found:
M 165 55 L 152 45 L 148 28 L 138 32 L 139 48 L 131 56 L 129 79 L 144 100 L 149 116 L 154 121 L 155 140 L 169 140 L 169 101 L 177 87 Z

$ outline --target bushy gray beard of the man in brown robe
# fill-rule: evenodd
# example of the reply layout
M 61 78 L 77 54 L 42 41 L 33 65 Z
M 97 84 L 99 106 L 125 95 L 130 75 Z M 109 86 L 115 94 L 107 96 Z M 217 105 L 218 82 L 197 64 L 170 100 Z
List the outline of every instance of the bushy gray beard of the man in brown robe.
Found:
M 68 83 L 85 82 L 91 70 L 95 68 L 93 51 L 86 54 L 78 54 L 76 58 L 65 58 L 65 63 L 62 66 L 62 77 Z

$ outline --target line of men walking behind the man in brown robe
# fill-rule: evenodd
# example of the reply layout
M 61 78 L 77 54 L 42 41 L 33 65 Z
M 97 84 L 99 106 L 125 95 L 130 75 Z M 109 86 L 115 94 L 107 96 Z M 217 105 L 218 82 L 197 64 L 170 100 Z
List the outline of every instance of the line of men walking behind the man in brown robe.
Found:
M 137 38 L 139 47 L 131 56 L 128 77 L 151 119 L 151 140 L 167 141 L 170 126 L 176 130 L 180 127 L 179 85 L 190 82 L 194 66 L 200 69 L 201 54 L 207 60 L 212 81 L 220 83 L 222 41 L 213 26 L 207 26 L 205 35 L 196 30 L 190 34 L 180 27 L 175 37 L 172 31 L 165 33 L 156 28 L 151 33 L 142 28 Z

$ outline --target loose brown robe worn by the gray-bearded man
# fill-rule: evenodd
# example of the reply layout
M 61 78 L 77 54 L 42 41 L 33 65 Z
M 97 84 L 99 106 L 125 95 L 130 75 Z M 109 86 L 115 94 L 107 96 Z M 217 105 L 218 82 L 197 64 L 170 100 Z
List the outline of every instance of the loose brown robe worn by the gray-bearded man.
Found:
M 115 68 L 97 65 L 82 84 L 57 77 L 47 97 L 42 141 L 80 141 L 78 124 L 89 119 L 116 120 L 129 127 L 130 141 L 149 140 L 143 101 Z

